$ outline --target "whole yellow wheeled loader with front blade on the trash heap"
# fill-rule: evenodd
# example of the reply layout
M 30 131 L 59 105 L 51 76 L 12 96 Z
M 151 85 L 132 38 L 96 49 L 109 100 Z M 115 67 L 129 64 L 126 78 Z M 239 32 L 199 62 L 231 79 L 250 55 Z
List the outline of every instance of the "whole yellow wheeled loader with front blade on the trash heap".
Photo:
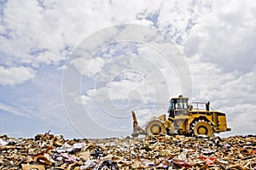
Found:
M 203 107 L 201 107 L 203 105 Z M 137 116 L 134 111 L 132 137 L 139 134 L 156 136 L 160 134 L 183 134 L 186 136 L 206 135 L 211 137 L 213 133 L 230 131 L 227 127 L 224 112 L 213 111 L 210 102 L 192 102 L 189 98 L 179 95 L 170 100 L 170 106 L 166 115 L 153 117 L 146 123 L 145 129 L 138 126 Z

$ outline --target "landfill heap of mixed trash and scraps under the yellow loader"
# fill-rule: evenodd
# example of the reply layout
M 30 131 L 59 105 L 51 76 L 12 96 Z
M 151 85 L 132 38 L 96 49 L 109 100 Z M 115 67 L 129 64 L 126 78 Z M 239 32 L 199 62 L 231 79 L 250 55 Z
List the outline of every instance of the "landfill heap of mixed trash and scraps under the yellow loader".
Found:
M 0 168 L 54 169 L 255 169 L 256 137 L 165 136 L 123 139 L 0 137 Z

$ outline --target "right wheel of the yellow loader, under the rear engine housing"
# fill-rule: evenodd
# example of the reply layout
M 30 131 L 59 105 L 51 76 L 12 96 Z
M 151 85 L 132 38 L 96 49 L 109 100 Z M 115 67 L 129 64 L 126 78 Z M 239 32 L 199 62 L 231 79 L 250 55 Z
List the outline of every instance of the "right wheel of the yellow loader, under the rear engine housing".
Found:
M 212 137 L 212 126 L 208 122 L 197 122 L 194 127 L 194 134 L 195 136 L 207 135 L 208 137 Z

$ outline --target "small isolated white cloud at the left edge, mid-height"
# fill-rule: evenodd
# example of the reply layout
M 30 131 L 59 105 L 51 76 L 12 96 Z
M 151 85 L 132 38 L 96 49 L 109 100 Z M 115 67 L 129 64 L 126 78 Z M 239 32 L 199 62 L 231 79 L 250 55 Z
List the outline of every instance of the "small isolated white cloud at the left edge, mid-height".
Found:
M 35 71 L 24 66 L 5 68 L 0 66 L 0 84 L 11 85 L 26 82 L 35 77 Z

